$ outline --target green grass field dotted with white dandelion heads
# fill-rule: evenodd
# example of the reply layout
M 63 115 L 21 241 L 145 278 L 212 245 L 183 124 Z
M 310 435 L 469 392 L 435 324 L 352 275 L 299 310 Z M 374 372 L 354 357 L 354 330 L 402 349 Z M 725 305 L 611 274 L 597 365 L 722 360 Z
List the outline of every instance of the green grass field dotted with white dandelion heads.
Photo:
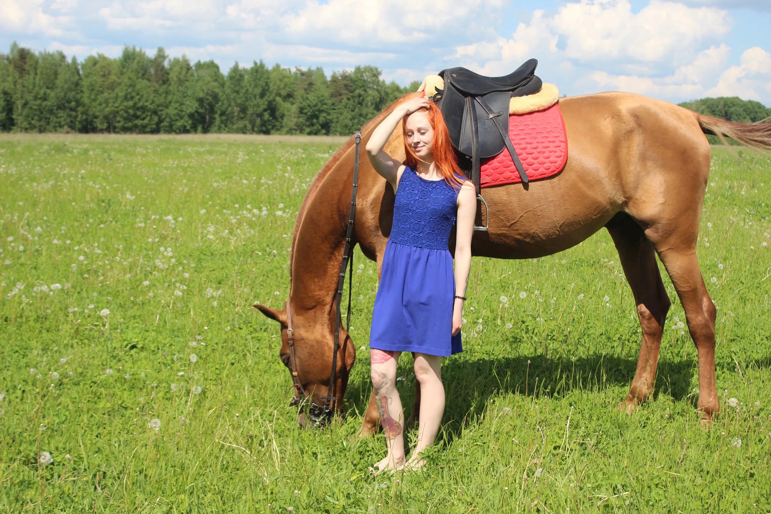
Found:
M 771 157 L 713 151 L 698 247 L 719 309 L 711 429 L 666 276 L 655 397 L 614 411 L 640 329 L 603 230 L 543 259 L 473 259 L 429 466 L 372 479 L 383 436 L 355 433 L 375 264 L 356 250 L 358 361 L 348 415 L 324 431 L 297 425 L 278 324 L 251 308 L 288 297 L 295 217 L 338 145 L 0 138 L 0 510 L 771 512 Z M 405 405 L 411 370 L 406 355 Z

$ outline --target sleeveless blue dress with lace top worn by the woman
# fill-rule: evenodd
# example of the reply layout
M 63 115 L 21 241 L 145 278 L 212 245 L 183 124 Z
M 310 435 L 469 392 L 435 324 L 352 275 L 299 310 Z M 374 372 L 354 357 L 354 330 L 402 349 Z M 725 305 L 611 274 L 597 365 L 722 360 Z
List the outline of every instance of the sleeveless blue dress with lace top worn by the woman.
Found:
M 424 179 L 409 166 L 402 172 L 375 294 L 370 348 L 430 355 L 463 351 L 460 331 L 453 336 L 455 274 L 449 253 L 459 191 L 444 179 Z

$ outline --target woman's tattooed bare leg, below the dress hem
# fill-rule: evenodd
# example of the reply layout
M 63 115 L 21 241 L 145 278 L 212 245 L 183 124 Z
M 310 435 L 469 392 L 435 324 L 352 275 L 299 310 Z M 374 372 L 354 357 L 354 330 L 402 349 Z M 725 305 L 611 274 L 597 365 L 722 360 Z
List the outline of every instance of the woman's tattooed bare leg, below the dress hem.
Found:
M 375 404 L 380 414 L 380 425 L 385 434 L 388 454 L 375 464 L 375 475 L 385 469 L 399 469 L 404 465 L 404 410 L 399 392 L 396 391 L 396 365 L 400 351 L 383 351 L 372 348 L 372 388 Z

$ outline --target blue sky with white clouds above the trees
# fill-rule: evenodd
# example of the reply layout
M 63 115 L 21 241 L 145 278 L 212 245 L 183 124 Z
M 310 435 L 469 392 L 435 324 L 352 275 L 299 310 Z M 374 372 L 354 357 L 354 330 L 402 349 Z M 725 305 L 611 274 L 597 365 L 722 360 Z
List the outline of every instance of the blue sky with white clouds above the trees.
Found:
M 12 42 L 79 59 L 151 55 L 251 66 L 377 66 L 402 86 L 454 66 L 537 75 L 568 96 L 638 92 L 771 106 L 771 0 L 0 0 Z

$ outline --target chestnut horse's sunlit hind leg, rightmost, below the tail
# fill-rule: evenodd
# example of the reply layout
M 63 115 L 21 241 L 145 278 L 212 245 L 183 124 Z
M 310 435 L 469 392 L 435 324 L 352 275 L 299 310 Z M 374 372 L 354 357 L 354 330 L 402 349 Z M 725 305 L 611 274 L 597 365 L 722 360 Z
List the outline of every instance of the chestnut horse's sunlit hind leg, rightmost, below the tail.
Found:
M 685 310 L 688 330 L 699 354 L 699 401 L 702 422 L 709 421 L 719 411 L 715 386 L 715 318 L 717 310 L 699 269 L 694 244 L 679 246 L 674 234 L 656 244 L 658 257 L 675 285 Z

